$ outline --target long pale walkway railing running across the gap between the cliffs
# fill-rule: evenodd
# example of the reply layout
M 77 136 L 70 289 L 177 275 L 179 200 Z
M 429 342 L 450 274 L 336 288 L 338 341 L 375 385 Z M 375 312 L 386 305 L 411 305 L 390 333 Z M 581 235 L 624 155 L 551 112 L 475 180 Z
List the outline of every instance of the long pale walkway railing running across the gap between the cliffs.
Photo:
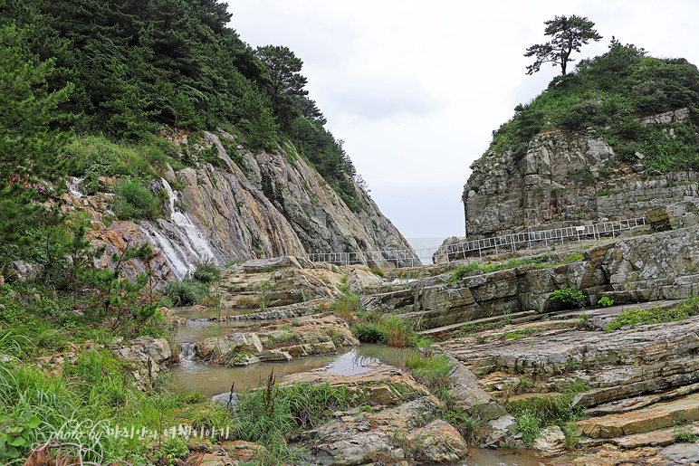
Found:
M 568 226 L 552 230 L 528 231 L 522 233 L 504 234 L 483 238 L 481 240 L 466 241 L 462 243 L 448 244 L 432 249 L 405 249 L 392 251 L 366 251 L 366 252 L 311 252 L 306 257 L 312 262 L 329 262 L 338 265 L 371 264 L 391 262 L 396 267 L 416 267 L 422 265 L 418 257 L 432 257 L 433 262 L 451 262 L 456 259 L 464 259 L 467 255 L 475 255 L 477 252 L 483 257 L 484 252 L 494 251 L 515 252 L 524 249 L 541 247 L 541 243 L 549 244 L 578 241 L 592 236 L 600 239 L 602 236 L 617 237 L 622 231 L 631 230 L 637 226 L 646 224 L 646 217 L 632 218 L 628 220 L 616 220 L 613 222 L 594 223 L 590 225 Z M 440 261 L 440 259 L 442 259 Z

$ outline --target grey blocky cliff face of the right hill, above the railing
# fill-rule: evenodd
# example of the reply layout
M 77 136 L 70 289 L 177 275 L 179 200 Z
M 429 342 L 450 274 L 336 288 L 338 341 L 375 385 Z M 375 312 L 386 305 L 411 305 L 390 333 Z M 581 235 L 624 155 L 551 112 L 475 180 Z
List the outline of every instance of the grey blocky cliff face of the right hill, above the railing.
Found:
M 679 109 L 641 121 L 642 125 L 688 118 Z M 673 134 L 667 133 L 668 138 Z M 464 186 L 469 240 L 512 233 L 541 224 L 583 223 L 644 216 L 665 207 L 674 227 L 699 221 L 699 175 L 662 174 L 646 169 L 644 155 L 620 160 L 594 130 L 556 130 L 532 138 L 522 157 L 514 147 L 489 152 L 471 166 Z M 555 227 L 555 226 L 551 226 Z

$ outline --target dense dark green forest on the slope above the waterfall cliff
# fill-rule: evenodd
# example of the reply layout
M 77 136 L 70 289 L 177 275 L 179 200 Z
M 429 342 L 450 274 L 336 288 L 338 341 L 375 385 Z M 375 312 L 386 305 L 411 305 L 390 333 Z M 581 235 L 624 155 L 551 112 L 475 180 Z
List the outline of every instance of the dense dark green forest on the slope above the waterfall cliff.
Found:
M 52 128 L 142 143 L 165 127 L 223 127 L 241 135 L 245 147 L 272 150 L 291 139 L 356 210 L 355 169 L 303 89 L 302 61 L 283 46 L 254 50 L 244 43 L 227 26 L 226 6 L 7 0 L 0 2 L 0 26 L 16 26 L 2 42 L 24 62 L 44 64 L 46 93 L 66 91 L 51 111 Z

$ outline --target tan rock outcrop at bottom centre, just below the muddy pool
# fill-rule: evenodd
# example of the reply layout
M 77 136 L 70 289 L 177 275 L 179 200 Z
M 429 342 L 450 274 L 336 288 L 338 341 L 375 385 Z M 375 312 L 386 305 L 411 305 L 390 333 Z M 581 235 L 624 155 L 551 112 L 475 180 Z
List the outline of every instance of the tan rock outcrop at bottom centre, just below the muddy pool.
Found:
M 307 455 L 313 464 L 395 464 L 411 457 L 425 463 L 450 463 L 468 456 L 464 439 L 452 425 L 426 422 L 439 409 L 436 397 L 397 368 L 349 377 L 306 372 L 284 377 L 281 385 L 299 383 L 343 386 L 349 395 L 375 406 L 334 413 L 328 423 L 299 433 L 294 440 L 312 441 Z M 407 452 L 408 448 L 414 451 Z

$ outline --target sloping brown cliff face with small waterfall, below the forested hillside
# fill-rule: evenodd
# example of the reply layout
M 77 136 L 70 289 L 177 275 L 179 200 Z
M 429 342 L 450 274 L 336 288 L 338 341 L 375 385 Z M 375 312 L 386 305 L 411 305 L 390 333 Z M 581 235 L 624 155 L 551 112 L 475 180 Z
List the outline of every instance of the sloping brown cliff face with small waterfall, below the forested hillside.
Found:
M 164 218 L 110 222 L 112 195 L 81 195 L 81 180 L 64 195 L 63 209 L 88 214 L 92 242 L 106 244 L 109 253 L 150 243 L 160 252 L 151 263 L 158 280 L 184 279 L 206 261 L 410 249 L 364 191 L 357 187 L 361 210 L 353 213 L 294 147 L 253 153 L 237 145 L 234 136 L 221 134 L 225 146 L 210 133 L 196 141 L 218 147 L 220 167 L 202 162 L 177 173 L 170 169 L 148 185 L 164 199 Z M 185 145 L 187 138 L 177 142 Z M 236 147 L 237 164 L 225 147 Z M 132 275 L 145 267 L 129 264 L 126 272 Z

